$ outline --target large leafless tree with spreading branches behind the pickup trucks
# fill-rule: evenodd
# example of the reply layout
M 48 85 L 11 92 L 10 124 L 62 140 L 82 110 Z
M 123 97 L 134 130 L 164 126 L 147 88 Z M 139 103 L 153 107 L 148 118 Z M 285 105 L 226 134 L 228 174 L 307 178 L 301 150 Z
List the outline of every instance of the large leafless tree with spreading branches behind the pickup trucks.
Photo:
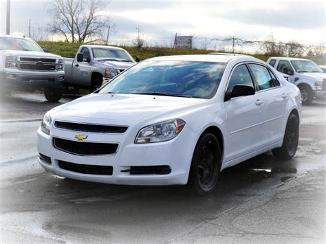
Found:
M 104 0 L 53 0 L 47 5 L 52 17 L 49 29 L 67 42 L 100 41 L 109 25 L 108 19 L 100 15 L 107 3 Z

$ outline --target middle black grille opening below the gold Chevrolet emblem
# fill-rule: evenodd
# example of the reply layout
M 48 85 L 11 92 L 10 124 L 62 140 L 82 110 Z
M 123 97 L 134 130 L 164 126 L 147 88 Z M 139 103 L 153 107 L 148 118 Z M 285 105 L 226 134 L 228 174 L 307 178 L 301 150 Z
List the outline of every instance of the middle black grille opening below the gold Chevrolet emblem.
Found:
M 118 143 L 77 142 L 53 138 L 53 146 L 58 150 L 74 155 L 109 155 L 116 153 Z

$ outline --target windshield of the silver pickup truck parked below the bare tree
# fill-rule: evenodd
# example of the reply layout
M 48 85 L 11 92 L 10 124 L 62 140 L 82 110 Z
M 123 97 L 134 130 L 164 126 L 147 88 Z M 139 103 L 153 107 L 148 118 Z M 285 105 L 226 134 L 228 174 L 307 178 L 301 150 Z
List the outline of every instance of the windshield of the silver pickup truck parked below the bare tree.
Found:
M 93 56 L 94 58 L 107 59 L 107 60 L 126 60 L 129 62 L 133 62 L 133 58 L 122 49 L 109 49 L 109 48 L 93 48 Z

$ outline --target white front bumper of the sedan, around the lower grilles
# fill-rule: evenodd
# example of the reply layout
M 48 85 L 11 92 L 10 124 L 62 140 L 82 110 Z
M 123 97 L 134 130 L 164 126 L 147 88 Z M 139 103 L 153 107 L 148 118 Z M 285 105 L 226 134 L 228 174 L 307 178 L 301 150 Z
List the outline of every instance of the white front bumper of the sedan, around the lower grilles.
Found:
M 152 144 L 133 144 L 126 137 L 135 137 L 133 131 L 122 135 L 102 135 L 87 133 L 88 142 L 119 142 L 118 151 L 113 155 L 81 156 L 65 153 L 52 145 L 52 137 L 64 137 L 73 140 L 76 131 L 52 129 L 52 135 L 46 135 L 39 129 L 37 147 L 39 153 L 50 157 L 51 163 L 39 159 L 45 170 L 61 177 L 81 181 L 93 181 L 105 184 L 121 185 L 182 185 L 188 181 L 188 174 L 193 157 L 193 145 L 187 137 L 186 126 L 180 135 L 168 142 Z M 189 135 L 189 134 L 188 134 Z M 133 141 L 133 140 L 132 140 Z M 80 142 L 83 143 L 83 142 Z M 76 173 L 59 166 L 59 161 L 91 166 L 112 166 L 112 175 Z M 131 175 L 125 172 L 131 166 L 169 166 L 171 173 L 166 175 L 144 174 Z M 124 172 L 123 172 L 124 171 Z

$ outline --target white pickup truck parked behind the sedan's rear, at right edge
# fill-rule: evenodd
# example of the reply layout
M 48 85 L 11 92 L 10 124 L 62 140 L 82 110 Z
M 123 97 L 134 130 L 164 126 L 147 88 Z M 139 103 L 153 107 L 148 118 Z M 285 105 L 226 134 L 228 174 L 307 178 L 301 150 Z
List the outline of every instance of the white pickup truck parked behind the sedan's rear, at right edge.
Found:
M 326 74 L 312 60 L 304 58 L 272 57 L 267 61 L 289 81 L 298 86 L 303 104 L 311 104 L 315 97 L 326 96 Z

